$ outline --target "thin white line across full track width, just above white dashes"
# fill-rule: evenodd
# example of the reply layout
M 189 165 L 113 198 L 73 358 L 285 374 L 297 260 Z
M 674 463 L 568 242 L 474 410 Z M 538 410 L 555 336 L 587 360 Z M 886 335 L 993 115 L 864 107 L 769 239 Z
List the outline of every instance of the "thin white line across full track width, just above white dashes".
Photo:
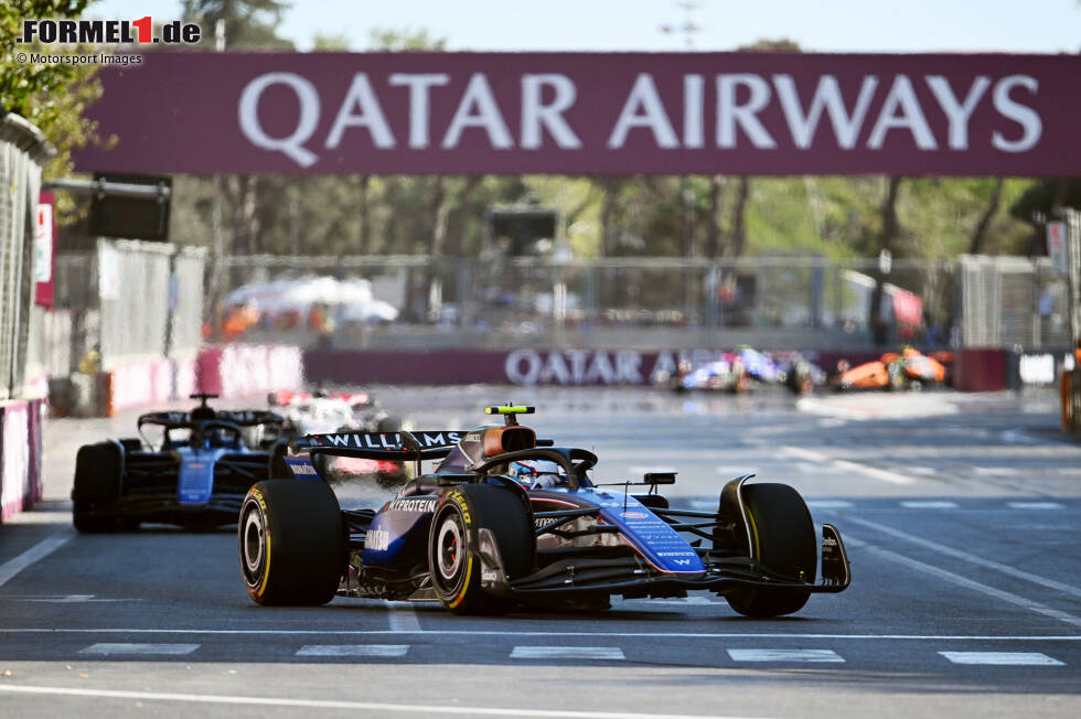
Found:
M 0 627 L 0 634 L 206 634 L 211 636 L 405 636 L 410 634 L 430 634 L 432 636 L 510 636 L 512 638 L 524 636 L 599 636 L 616 638 L 660 637 L 687 640 L 750 637 L 778 640 L 914 640 L 923 642 L 1081 642 L 1081 634 L 996 636 L 988 634 L 814 634 L 789 632 L 521 632 L 515 630 L 425 630 L 424 632 L 396 632 L 394 630 L 51 629 L 23 626 Z

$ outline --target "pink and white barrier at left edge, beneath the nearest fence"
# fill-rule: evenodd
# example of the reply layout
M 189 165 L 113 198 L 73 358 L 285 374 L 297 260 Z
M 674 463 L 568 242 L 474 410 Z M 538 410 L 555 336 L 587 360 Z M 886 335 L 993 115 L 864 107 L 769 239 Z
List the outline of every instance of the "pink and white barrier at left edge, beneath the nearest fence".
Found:
M 0 522 L 41 498 L 44 399 L 0 404 Z

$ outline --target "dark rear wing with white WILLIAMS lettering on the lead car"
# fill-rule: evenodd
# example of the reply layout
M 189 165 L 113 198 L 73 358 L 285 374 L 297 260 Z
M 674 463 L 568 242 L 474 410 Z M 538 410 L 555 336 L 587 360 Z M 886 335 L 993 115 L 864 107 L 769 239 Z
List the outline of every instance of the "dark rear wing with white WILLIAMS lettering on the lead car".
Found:
M 308 434 L 289 443 L 295 452 L 381 460 L 439 459 L 450 454 L 470 430 L 411 432 L 332 432 Z M 413 440 L 413 441 L 410 441 Z M 414 443 L 415 442 L 415 443 Z

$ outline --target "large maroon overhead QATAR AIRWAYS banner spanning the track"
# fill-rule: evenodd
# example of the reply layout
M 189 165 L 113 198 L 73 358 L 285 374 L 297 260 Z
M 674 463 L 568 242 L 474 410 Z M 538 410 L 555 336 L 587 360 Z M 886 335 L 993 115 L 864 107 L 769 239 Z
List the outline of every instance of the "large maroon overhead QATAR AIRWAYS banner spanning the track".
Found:
M 104 67 L 132 173 L 1081 174 L 1077 55 L 170 53 Z

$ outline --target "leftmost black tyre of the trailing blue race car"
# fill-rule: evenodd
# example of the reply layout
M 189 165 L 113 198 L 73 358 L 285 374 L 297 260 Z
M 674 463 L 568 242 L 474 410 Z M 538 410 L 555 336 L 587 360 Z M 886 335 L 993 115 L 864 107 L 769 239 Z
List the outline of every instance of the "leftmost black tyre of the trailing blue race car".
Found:
M 117 518 L 105 514 L 120 497 L 124 450 L 114 442 L 84 444 L 75 455 L 72 523 L 83 534 L 114 532 Z

